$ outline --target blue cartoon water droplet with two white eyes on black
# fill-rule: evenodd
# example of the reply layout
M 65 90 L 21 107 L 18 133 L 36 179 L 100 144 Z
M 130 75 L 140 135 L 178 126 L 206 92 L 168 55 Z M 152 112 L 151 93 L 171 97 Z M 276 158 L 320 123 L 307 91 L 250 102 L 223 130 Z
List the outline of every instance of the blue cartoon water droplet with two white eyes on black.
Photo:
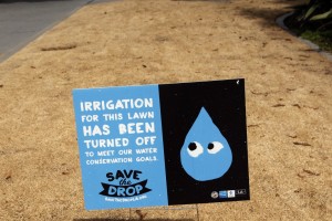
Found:
M 198 181 L 222 177 L 232 162 L 231 149 L 203 107 L 180 150 L 185 171 Z

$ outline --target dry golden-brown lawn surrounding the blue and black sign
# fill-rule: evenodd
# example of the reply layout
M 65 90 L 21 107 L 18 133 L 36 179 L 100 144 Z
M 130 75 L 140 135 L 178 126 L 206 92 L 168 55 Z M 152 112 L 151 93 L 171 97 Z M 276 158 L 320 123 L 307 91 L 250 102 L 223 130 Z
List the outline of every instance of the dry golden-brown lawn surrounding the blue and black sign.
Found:
M 0 220 L 332 220 L 332 63 L 274 23 L 299 2 L 91 4 L 2 62 Z M 84 211 L 73 88 L 235 77 L 250 201 Z

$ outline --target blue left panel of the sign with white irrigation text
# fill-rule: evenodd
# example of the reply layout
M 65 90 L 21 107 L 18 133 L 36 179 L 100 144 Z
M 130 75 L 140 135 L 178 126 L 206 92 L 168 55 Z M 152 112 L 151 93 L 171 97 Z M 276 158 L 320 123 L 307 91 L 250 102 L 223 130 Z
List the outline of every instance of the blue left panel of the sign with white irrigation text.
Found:
M 168 204 L 158 86 L 73 96 L 85 208 Z

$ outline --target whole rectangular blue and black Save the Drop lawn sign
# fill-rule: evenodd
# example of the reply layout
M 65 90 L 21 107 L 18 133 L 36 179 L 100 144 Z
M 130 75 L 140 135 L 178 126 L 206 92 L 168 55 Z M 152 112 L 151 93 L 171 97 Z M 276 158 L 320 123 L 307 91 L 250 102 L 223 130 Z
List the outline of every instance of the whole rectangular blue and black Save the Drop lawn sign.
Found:
M 73 99 L 87 210 L 249 200 L 245 80 Z

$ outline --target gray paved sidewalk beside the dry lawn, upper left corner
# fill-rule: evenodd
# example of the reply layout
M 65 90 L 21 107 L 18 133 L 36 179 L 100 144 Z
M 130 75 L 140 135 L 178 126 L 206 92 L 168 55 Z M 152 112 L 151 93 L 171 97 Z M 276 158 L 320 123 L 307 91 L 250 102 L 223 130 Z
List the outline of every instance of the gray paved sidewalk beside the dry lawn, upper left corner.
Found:
M 0 62 L 87 3 L 112 0 L 0 0 Z

